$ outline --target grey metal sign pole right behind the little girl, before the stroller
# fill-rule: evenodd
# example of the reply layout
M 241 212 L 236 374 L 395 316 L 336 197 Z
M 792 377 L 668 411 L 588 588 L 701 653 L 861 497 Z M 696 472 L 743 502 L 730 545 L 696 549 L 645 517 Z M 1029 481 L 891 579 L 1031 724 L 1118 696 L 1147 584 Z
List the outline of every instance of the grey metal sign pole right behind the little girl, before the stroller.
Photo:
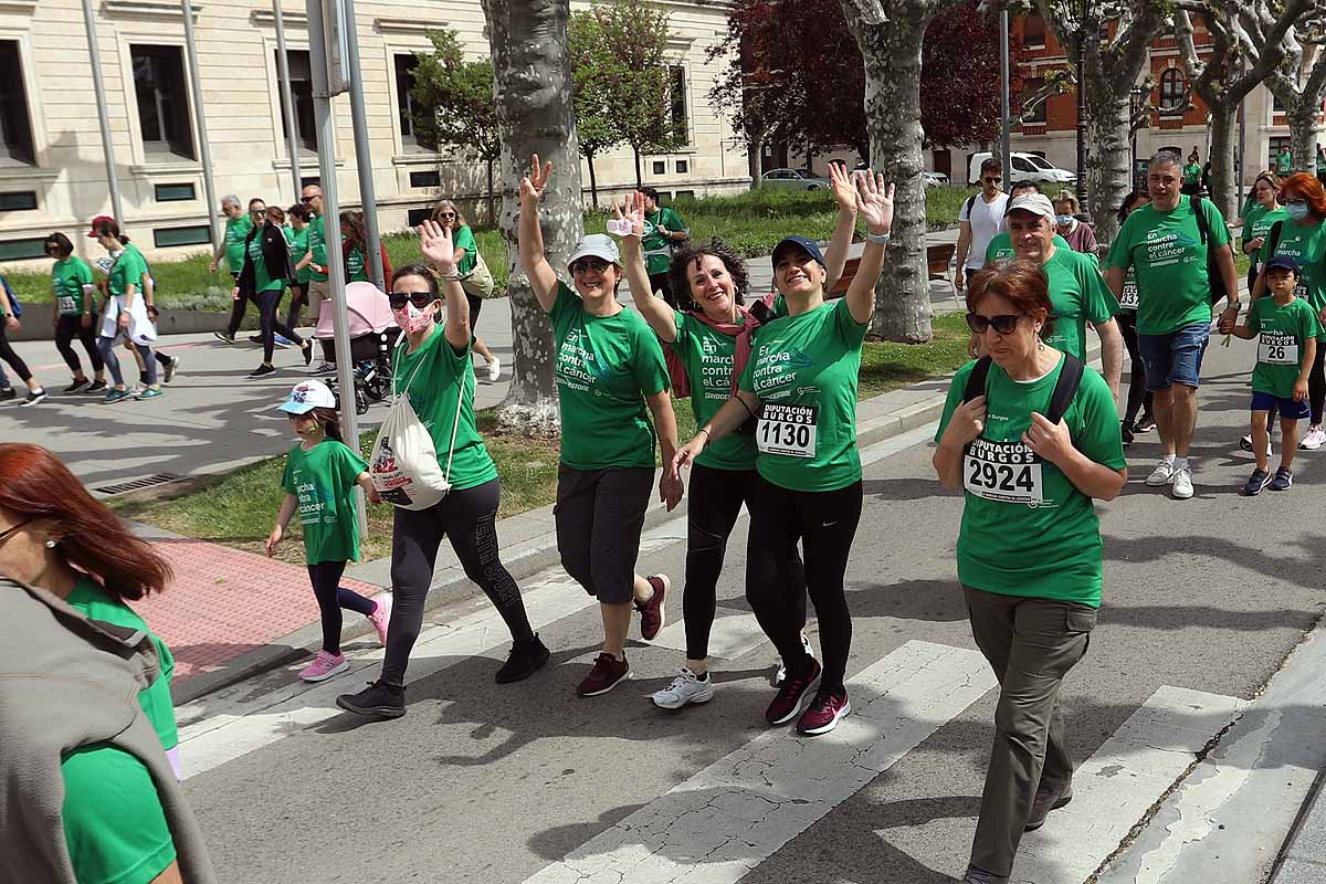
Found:
M 85 0 L 86 1 L 86 0 Z M 350 318 L 345 306 L 345 264 L 341 257 L 341 212 L 337 203 L 335 180 L 335 117 L 332 114 L 332 95 L 328 89 L 326 28 L 322 21 L 321 0 L 306 0 L 309 12 L 309 62 L 313 73 L 313 115 L 318 129 L 318 174 L 322 186 L 322 219 L 326 227 L 328 285 L 335 330 L 337 392 L 341 396 L 341 427 L 355 452 L 359 451 L 359 415 L 354 408 L 354 360 L 350 358 Z M 355 488 L 355 509 L 359 530 L 367 530 L 363 492 Z

